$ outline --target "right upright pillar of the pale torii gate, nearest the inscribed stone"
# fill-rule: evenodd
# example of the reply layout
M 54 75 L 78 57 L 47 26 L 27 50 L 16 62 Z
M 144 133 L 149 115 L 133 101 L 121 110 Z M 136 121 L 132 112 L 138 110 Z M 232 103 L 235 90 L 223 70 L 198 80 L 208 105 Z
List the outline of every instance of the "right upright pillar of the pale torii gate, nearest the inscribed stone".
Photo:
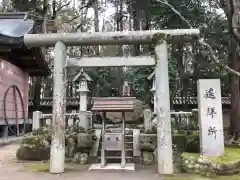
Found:
M 161 40 L 155 47 L 158 173 L 173 173 L 172 134 L 169 99 L 168 47 Z

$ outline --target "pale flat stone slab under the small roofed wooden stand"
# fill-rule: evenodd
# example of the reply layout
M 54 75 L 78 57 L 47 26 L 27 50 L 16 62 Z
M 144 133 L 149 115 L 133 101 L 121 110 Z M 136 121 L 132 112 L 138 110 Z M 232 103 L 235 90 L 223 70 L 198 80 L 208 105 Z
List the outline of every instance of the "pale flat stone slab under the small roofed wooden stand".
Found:
M 126 171 L 134 171 L 135 165 L 133 163 L 127 163 L 123 168 L 120 163 L 106 164 L 105 167 L 101 167 L 101 164 L 92 164 L 89 170 L 126 170 Z

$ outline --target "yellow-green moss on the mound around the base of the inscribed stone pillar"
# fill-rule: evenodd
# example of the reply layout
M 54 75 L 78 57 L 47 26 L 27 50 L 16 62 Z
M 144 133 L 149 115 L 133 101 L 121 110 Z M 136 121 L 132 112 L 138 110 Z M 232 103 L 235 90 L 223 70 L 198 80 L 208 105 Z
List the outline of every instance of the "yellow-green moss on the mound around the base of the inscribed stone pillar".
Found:
M 184 159 L 198 158 L 198 153 L 182 153 Z M 210 161 L 215 163 L 227 164 L 240 161 L 240 149 L 238 148 L 225 148 L 225 153 L 219 157 L 207 157 Z

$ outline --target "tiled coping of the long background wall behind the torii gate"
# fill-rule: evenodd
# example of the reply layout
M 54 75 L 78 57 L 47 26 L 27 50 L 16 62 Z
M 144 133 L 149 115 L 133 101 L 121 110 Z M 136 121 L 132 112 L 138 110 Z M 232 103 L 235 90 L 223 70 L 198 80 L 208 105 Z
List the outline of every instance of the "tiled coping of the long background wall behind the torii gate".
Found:
M 90 98 L 89 98 L 90 103 Z M 52 106 L 53 101 L 52 97 L 42 98 L 40 101 L 40 105 L 44 107 Z M 173 98 L 174 105 L 182 105 L 185 104 L 185 99 L 182 97 L 174 97 Z M 197 97 L 188 97 L 186 99 L 186 104 L 189 105 L 197 105 Z M 230 97 L 222 97 L 222 104 L 223 105 L 230 105 L 231 99 Z M 67 106 L 78 106 L 79 105 L 79 98 L 67 98 Z M 29 107 L 33 106 L 33 99 L 29 100 Z

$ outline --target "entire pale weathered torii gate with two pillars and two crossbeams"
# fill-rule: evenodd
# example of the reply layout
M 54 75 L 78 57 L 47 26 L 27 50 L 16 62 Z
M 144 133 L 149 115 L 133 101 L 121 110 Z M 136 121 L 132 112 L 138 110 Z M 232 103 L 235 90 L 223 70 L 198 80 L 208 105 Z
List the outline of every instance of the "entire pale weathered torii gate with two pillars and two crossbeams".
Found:
M 170 122 L 168 46 L 171 41 L 190 41 L 198 36 L 199 29 L 173 29 L 155 31 L 51 33 L 27 34 L 28 47 L 55 46 L 53 81 L 53 133 L 50 173 L 63 173 L 65 161 L 66 67 L 124 67 L 156 66 L 156 113 L 158 173 L 172 174 L 172 138 Z M 155 43 L 154 57 L 82 57 L 67 58 L 67 46 L 124 45 Z

